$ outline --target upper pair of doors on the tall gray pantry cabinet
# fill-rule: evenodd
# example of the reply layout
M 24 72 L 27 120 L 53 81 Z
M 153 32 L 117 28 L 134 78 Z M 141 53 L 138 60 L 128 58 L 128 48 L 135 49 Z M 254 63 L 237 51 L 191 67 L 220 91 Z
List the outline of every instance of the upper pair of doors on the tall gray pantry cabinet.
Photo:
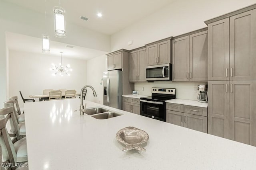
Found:
M 208 80 L 256 80 L 256 9 L 208 24 Z

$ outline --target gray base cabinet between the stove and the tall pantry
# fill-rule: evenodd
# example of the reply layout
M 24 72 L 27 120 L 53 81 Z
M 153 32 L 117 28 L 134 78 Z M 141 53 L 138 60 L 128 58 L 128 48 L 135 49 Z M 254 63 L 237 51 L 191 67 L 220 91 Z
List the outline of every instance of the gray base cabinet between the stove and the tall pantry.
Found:
M 167 103 L 166 122 L 207 133 L 207 108 Z

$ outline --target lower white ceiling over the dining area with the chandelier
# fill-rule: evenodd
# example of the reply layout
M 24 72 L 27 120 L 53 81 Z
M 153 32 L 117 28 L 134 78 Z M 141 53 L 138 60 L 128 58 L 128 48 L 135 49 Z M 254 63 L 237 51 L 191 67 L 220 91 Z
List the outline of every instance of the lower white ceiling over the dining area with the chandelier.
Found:
M 8 32 L 6 33 L 6 40 L 9 50 L 42 54 L 42 39 L 40 38 Z M 70 44 L 50 41 L 50 54 L 46 55 L 60 56 L 60 51 L 62 51 L 62 57 L 88 60 L 106 54 L 105 51 L 74 45 L 72 45 L 73 48 L 68 48 L 66 45 Z

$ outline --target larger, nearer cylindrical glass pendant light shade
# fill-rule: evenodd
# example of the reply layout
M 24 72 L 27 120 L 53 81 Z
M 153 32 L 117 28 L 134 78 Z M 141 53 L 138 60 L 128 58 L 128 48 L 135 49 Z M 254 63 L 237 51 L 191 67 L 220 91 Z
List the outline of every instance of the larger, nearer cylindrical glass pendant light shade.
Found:
M 66 38 L 64 15 L 65 15 L 65 10 L 63 8 L 58 7 L 58 6 L 54 7 L 55 37 Z

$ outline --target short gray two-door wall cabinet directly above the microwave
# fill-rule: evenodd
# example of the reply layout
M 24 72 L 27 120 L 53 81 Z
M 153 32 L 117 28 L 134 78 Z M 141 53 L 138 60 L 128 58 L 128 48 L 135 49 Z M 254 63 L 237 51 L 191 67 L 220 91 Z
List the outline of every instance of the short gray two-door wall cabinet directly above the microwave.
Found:
M 146 45 L 146 66 L 171 63 L 170 39 Z

